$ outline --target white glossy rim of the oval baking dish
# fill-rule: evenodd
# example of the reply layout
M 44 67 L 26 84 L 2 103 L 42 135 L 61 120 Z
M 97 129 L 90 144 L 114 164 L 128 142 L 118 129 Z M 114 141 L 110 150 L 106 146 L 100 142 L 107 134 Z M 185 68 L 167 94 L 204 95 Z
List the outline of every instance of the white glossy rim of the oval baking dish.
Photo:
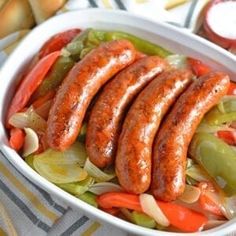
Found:
M 144 24 L 150 24 L 152 27 L 155 26 L 156 27 L 161 27 L 161 28 L 165 28 L 167 31 L 172 31 L 173 33 L 177 33 L 178 35 L 182 35 L 185 36 L 187 38 L 191 38 L 194 40 L 195 43 L 200 43 L 203 44 L 204 46 L 208 46 L 210 47 L 210 49 L 212 50 L 216 50 L 217 52 L 219 52 L 220 54 L 222 54 L 222 56 L 225 56 L 231 60 L 233 60 L 234 62 L 236 62 L 235 57 L 230 53 L 227 52 L 226 50 L 220 48 L 219 46 L 207 41 L 206 39 L 203 39 L 199 36 L 196 36 L 194 34 L 191 34 L 190 32 L 187 31 L 183 31 L 178 29 L 175 26 L 169 25 L 167 23 L 163 23 L 163 22 L 154 22 L 150 19 L 147 19 L 146 17 L 142 17 L 136 14 L 131 14 L 125 11 L 121 11 L 121 10 L 105 10 L 105 9 L 85 9 L 85 10 L 79 10 L 79 11 L 72 11 L 72 12 L 67 12 L 61 15 L 57 15 L 54 16 L 52 18 L 50 18 L 48 21 L 46 21 L 45 23 L 39 25 L 38 27 L 34 28 L 27 36 L 26 38 L 20 43 L 19 47 L 16 48 L 16 50 L 9 56 L 8 60 L 5 62 L 5 64 L 3 65 L 1 71 L 0 71 L 0 77 L 4 77 L 4 75 L 8 74 L 9 72 L 7 72 L 8 68 L 10 68 L 10 66 L 12 66 L 12 62 L 14 62 L 17 58 L 17 56 L 19 55 L 19 52 L 22 50 L 21 48 L 24 47 L 24 45 L 29 42 L 29 40 L 31 38 L 33 38 L 34 35 L 37 35 L 38 32 L 40 32 L 42 29 L 49 27 L 50 25 L 53 25 L 53 23 L 57 23 L 58 21 L 62 21 L 64 18 L 70 18 L 71 16 L 75 15 L 75 14 L 81 14 L 81 15 L 93 15 L 93 14 L 105 14 L 105 15 L 117 15 L 122 17 L 128 17 L 128 18 L 133 18 L 138 20 L 138 21 L 142 21 Z M 155 33 L 156 34 L 156 33 Z M 23 46 L 22 46 L 23 45 Z M 15 71 L 16 74 L 17 71 Z M 12 78 L 10 79 L 10 83 L 12 83 Z M 9 84 L 10 86 L 10 84 Z M 8 86 L 8 87 L 9 87 Z M 5 89 L 5 93 L 7 92 L 6 86 L 3 86 L 2 89 L 4 91 Z M 0 95 L 0 105 L 1 103 L 3 104 L 3 99 L 4 99 L 4 94 Z M 6 158 L 8 159 L 8 161 L 11 162 L 11 164 L 22 174 L 24 175 L 26 178 L 31 179 L 34 183 L 36 183 L 37 185 L 39 185 L 40 187 L 43 187 L 44 189 L 46 189 L 48 192 L 50 192 L 51 194 L 54 194 L 56 196 L 58 196 L 61 200 L 66 201 L 69 205 L 73 205 L 74 207 L 76 207 L 77 209 L 83 210 L 85 211 L 87 214 L 89 214 L 92 218 L 96 217 L 99 220 L 102 220 L 104 222 L 110 223 L 118 228 L 122 228 L 123 230 L 129 231 L 131 233 L 136 233 L 136 234 L 144 234 L 145 235 L 155 235 L 155 234 L 160 234 L 162 236 L 165 235 L 199 235 L 199 232 L 197 233 L 173 233 L 173 232 L 164 232 L 164 231 L 158 231 L 158 230 L 153 230 L 153 229 L 146 229 L 144 227 L 138 226 L 138 225 L 134 225 L 132 223 L 129 223 L 127 221 L 121 220 L 117 217 L 111 216 L 99 209 L 94 208 L 93 206 L 88 205 L 87 203 L 81 201 L 80 199 L 74 197 L 73 195 L 65 192 L 64 190 L 60 189 L 59 187 L 57 187 L 56 185 L 54 185 L 53 183 L 50 183 L 49 181 L 47 181 L 45 178 L 43 178 L 42 176 L 40 176 L 37 172 L 35 172 L 33 169 L 31 169 L 31 167 L 29 167 L 24 161 L 23 159 L 20 158 L 20 155 L 18 155 L 15 151 L 11 150 L 6 143 L 6 132 L 4 131 L 4 127 L 3 127 L 3 123 L 2 121 L 4 120 L 3 118 L 3 108 L 1 108 L 0 110 L 0 116 L 1 116 L 1 123 L 0 123 L 0 138 L 1 138 L 1 143 L 0 143 L 0 149 L 2 150 L 2 152 L 5 154 Z M 16 158 L 20 158 L 16 159 Z M 233 230 L 236 229 L 236 219 L 233 219 L 231 221 L 228 221 L 227 223 L 225 223 L 222 226 L 210 229 L 210 230 L 206 230 L 206 231 L 202 231 L 201 235 L 213 235 L 214 233 L 221 233 L 221 234 L 225 234 L 225 233 L 229 233 L 232 232 Z

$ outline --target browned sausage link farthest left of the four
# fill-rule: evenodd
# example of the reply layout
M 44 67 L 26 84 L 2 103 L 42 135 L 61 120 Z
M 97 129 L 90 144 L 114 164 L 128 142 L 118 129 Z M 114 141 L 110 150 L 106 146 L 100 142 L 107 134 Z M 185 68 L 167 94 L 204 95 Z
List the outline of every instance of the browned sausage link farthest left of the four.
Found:
M 131 64 L 136 51 L 127 40 L 104 43 L 77 63 L 64 79 L 49 113 L 51 148 L 67 149 L 76 139 L 94 95 L 118 71 Z

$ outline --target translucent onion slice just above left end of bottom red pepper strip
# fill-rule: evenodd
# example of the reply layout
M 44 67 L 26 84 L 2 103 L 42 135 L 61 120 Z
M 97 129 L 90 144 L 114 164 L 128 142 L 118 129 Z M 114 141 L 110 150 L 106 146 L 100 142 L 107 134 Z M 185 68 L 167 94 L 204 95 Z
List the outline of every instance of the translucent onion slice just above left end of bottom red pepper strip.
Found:
M 123 189 L 121 188 L 120 185 L 113 184 L 110 182 L 96 183 L 89 189 L 90 192 L 97 195 L 107 193 L 107 192 L 121 192 L 122 190 Z

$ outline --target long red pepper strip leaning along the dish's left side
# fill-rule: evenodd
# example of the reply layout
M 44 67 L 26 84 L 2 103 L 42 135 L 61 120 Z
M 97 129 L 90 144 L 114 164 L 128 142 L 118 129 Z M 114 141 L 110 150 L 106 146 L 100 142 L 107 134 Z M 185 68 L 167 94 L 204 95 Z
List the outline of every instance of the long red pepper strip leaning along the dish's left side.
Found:
M 53 63 L 56 61 L 56 59 L 59 57 L 59 55 L 60 52 L 56 51 L 42 58 L 29 72 L 29 74 L 27 74 L 26 77 L 22 80 L 8 109 L 8 128 L 10 127 L 9 119 L 11 118 L 11 116 L 14 113 L 22 110 L 26 106 L 31 95 L 42 83 L 45 75 L 47 74 Z

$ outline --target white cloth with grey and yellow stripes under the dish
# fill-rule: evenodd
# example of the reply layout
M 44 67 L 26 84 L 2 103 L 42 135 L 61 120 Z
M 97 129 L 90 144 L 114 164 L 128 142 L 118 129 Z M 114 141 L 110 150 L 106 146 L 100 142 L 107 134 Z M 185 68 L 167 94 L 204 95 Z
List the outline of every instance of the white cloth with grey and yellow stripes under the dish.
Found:
M 167 21 L 195 32 L 197 19 L 205 0 L 187 1 L 185 5 L 166 11 L 165 0 L 69 0 L 58 12 L 100 7 L 121 9 Z M 0 66 L 29 30 L 20 31 L 0 40 Z M 19 173 L 0 153 L 0 235 L 127 235 L 111 225 L 100 223 L 72 210 L 65 203 Z

